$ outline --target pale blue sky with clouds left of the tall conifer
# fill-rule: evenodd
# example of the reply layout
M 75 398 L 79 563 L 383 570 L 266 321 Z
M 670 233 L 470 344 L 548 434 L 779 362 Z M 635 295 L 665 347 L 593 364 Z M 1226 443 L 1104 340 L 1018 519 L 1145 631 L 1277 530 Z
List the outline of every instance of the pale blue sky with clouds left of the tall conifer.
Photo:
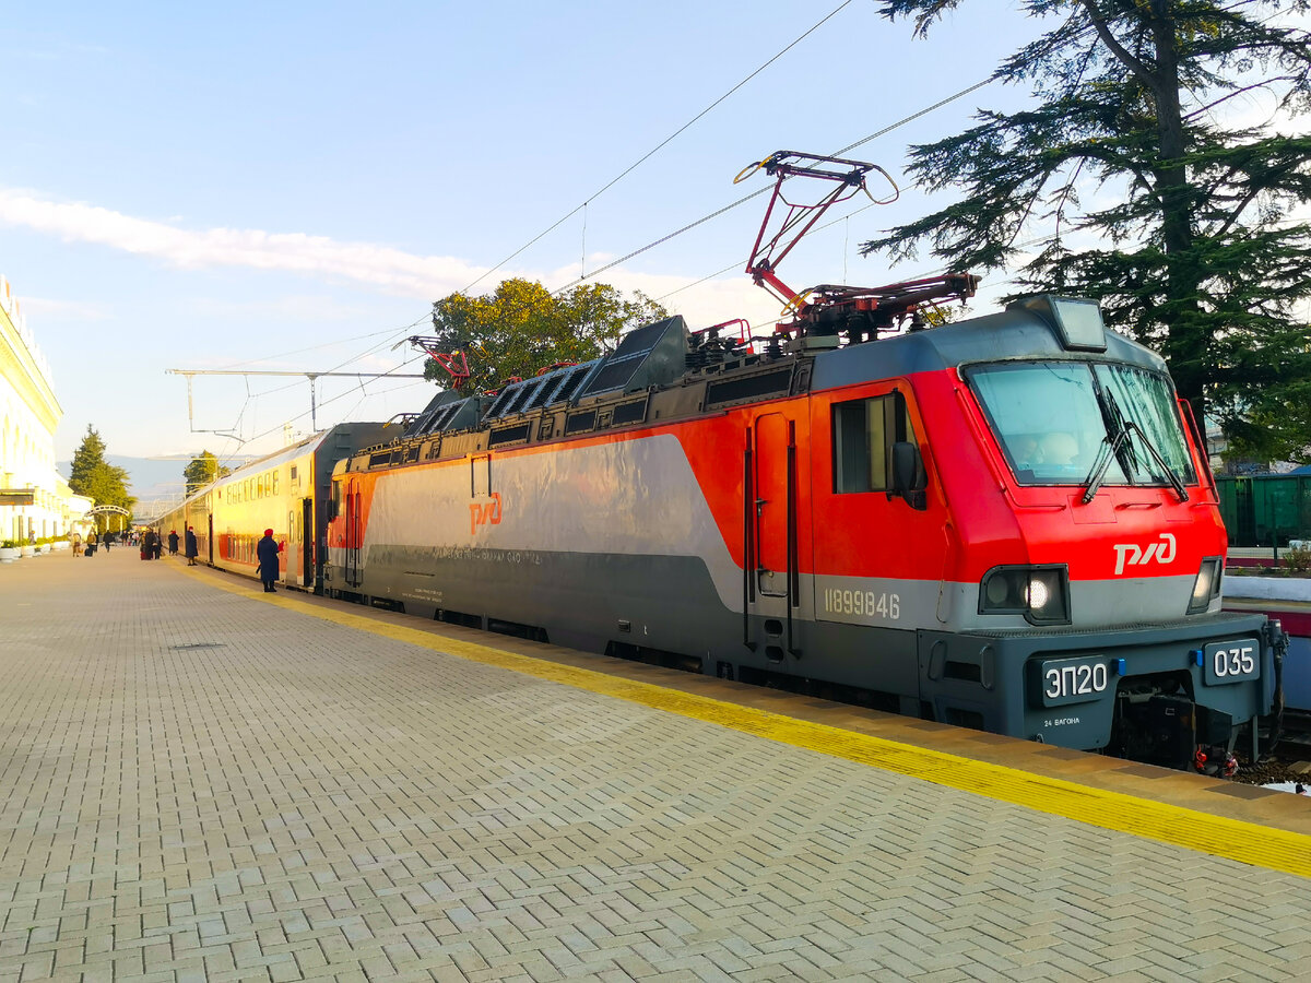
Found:
M 88 423 L 119 455 L 274 450 L 284 422 L 308 430 L 305 381 L 197 377 L 194 426 L 241 444 L 191 433 L 186 385 L 165 370 L 395 370 L 412 353 L 391 345 L 426 328 L 433 300 L 585 201 L 475 292 L 510 275 L 562 287 L 585 256 L 595 269 L 764 186 L 732 185 L 749 161 L 853 143 L 985 79 L 1038 29 L 981 0 L 920 41 L 851 0 L 593 198 L 839 3 L 5 4 L 0 273 L 51 363 L 56 456 Z M 851 156 L 899 178 L 907 144 L 1021 97 L 985 88 Z M 694 328 L 767 322 L 777 304 L 741 271 L 764 201 L 600 279 Z M 932 271 L 856 249 L 923 214 L 922 195 L 855 207 L 788 258 L 785 280 Z M 324 379 L 319 425 L 430 393 Z

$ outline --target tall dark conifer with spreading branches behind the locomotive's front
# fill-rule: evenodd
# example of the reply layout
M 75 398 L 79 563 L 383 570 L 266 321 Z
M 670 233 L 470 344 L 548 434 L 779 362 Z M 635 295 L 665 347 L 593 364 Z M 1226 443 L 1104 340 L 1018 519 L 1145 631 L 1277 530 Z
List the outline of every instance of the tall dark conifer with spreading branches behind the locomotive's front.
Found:
M 923 34 L 960 0 L 881 0 Z M 1029 109 L 911 148 L 910 172 L 948 207 L 861 250 L 920 245 L 949 269 L 1020 266 L 1030 291 L 1093 298 L 1106 322 L 1156 347 L 1198 417 L 1240 452 L 1311 444 L 1311 138 L 1278 131 L 1311 107 L 1311 34 L 1280 16 L 1301 0 L 1025 0 L 1061 17 L 995 77 Z M 1262 101 L 1268 118 L 1238 122 Z M 1093 191 L 1093 194 L 1089 194 Z M 1088 195 L 1083 207 L 1080 194 Z

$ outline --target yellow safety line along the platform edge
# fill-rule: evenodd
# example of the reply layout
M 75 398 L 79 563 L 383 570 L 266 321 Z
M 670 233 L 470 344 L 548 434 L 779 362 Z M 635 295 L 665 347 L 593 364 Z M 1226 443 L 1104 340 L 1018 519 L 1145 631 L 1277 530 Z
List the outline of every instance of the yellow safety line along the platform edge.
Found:
M 1152 802 L 1122 792 L 1078 785 L 1062 779 L 1033 775 L 1019 768 L 978 761 L 914 744 L 902 744 L 886 738 L 843 730 L 826 723 L 793 720 L 770 710 L 741 706 L 708 696 L 666 689 L 589 668 L 564 666 L 486 645 L 434 636 L 417 628 L 376 621 L 346 611 L 298 603 L 287 599 L 286 595 L 275 598 L 222 581 L 207 579 L 206 582 L 215 583 L 232 594 L 264 600 L 324 621 L 456 655 L 471 662 L 509 668 L 577 689 L 718 723 L 793 747 L 804 747 L 857 764 L 931 781 L 936 785 L 973 792 L 1000 802 L 1075 819 L 1104 830 L 1126 832 L 1270 870 L 1311 877 L 1311 836 L 1303 834 L 1228 819 L 1164 802 Z

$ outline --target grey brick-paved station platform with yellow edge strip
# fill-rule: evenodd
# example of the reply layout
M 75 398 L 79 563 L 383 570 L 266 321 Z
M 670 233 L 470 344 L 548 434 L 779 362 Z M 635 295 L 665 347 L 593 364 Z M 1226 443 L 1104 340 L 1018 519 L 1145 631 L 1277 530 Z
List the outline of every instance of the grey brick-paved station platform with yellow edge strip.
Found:
M 0 983 L 1311 975 L 1311 800 L 131 549 L 0 612 Z

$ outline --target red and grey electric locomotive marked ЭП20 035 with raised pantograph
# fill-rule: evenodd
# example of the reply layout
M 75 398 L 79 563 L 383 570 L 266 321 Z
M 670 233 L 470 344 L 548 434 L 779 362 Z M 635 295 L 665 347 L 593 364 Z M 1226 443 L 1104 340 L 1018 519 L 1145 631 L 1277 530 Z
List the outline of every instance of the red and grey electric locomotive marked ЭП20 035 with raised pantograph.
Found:
M 762 163 L 776 199 L 869 168 L 801 156 Z M 775 288 L 781 241 L 749 263 Z M 1215 486 L 1164 363 L 1080 299 L 927 326 L 974 286 L 783 288 L 759 350 L 671 317 L 438 393 L 334 468 L 324 586 L 1168 765 L 1255 742 L 1277 629 L 1221 611 Z

